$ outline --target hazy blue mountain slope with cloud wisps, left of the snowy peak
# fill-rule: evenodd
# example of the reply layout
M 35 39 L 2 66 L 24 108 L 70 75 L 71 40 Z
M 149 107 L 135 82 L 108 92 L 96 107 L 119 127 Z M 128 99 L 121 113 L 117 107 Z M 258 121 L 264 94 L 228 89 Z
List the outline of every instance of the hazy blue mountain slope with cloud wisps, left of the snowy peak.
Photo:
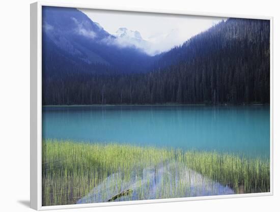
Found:
M 43 7 L 43 72 L 65 75 L 79 72 L 146 72 L 151 57 L 119 39 L 74 8 Z M 43 74 L 44 74 L 43 73 Z

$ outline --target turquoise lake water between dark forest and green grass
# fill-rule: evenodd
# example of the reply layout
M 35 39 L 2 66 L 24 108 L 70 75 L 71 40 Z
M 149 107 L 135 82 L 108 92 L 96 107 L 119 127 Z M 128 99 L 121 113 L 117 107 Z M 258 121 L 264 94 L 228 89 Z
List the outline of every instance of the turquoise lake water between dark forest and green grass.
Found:
M 47 106 L 44 139 L 269 157 L 269 106 Z

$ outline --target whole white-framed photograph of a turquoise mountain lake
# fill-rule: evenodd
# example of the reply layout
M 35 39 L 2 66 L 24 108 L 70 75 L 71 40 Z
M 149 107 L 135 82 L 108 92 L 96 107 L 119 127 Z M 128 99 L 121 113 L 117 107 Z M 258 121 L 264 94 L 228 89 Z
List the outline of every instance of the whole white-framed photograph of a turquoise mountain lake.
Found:
M 31 4 L 31 207 L 272 195 L 272 25 Z

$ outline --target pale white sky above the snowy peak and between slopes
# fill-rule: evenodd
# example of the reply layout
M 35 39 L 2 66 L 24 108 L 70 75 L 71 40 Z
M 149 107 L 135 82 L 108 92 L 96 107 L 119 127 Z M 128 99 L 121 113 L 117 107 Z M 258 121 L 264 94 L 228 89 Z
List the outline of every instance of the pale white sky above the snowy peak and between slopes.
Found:
M 226 18 L 221 17 L 94 9 L 79 10 L 85 13 L 92 21 L 99 23 L 110 34 L 116 34 L 121 27 L 138 31 L 142 38 L 149 42 L 149 48 L 143 48 L 151 55 L 170 50 L 221 20 L 226 20 Z

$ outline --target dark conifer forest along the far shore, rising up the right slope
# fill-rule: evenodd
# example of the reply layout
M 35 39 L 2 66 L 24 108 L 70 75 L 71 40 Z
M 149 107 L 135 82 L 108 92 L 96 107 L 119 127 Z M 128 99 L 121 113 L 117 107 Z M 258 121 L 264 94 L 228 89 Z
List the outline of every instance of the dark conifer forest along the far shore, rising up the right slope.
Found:
M 269 20 L 230 18 L 153 57 L 148 73 L 43 70 L 43 104 L 269 103 L 269 33 Z

